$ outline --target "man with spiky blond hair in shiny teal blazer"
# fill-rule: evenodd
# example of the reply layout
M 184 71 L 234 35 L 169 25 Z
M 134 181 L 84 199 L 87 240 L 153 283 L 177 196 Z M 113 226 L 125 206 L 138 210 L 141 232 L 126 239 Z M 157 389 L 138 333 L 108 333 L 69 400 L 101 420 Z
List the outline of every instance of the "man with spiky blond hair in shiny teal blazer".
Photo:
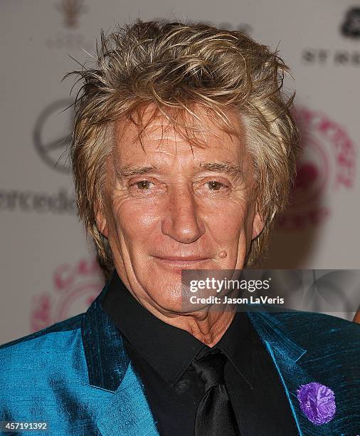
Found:
M 191 307 L 181 283 L 252 264 L 286 203 L 285 63 L 239 32 L 142 21 L 97 56 L 78 72 L 72 159 L 107 284 L 86 313 L 1 347 L 1 420 L 51 435 L 358 434 L 359 326 Z

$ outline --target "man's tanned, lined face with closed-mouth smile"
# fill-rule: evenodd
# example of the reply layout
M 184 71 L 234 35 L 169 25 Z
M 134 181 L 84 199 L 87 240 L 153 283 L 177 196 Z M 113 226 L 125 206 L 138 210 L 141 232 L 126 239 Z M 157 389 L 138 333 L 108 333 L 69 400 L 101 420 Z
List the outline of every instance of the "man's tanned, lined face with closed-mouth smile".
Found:
M 145 307 L 163 313 L 181 311 L 181 269 L 242 269 L 263 229 L 240 121 L 228 112 L 236 137 L 202 108 L 197 114 L 205 120 L 196 133 L 204 147 L 191 147 L 156 118 L 142 135 L 143 150 L 137 126 L 120 121 L 105 209 L 97 214 L 120 278 Z

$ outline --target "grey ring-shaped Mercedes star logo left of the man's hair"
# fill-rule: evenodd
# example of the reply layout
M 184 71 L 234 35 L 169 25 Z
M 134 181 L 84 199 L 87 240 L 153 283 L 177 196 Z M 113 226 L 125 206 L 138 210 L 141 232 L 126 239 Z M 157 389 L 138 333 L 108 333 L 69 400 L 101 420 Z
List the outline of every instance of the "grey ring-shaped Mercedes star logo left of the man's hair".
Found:
M 57 100 L 38 115 L 33 130 L 33 142 L 43 162 L 53 170 L 68 173 L 68 147 L 71 142 L 74 113 L 73 100 Z

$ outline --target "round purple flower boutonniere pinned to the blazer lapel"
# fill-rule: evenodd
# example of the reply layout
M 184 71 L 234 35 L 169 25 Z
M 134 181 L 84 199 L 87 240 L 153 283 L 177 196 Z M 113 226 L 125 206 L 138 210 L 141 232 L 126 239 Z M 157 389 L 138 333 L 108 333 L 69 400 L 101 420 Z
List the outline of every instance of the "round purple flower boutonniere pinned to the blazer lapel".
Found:
M 337 411 L 334 392 L 321 383 L 307 383 L 297 390 L 300 408 L 315 425 L 330 422 Z

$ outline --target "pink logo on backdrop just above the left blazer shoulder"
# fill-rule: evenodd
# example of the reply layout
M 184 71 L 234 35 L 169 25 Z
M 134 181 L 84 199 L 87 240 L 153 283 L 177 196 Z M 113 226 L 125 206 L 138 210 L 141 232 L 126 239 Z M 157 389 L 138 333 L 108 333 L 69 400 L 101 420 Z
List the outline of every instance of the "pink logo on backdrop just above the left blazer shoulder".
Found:
M 87 311 L 100 294 L 104 279 L 96 259 L 60 264 L 53 271 L 53 288 L 33 298 L 31 331 L 38 331 Z

